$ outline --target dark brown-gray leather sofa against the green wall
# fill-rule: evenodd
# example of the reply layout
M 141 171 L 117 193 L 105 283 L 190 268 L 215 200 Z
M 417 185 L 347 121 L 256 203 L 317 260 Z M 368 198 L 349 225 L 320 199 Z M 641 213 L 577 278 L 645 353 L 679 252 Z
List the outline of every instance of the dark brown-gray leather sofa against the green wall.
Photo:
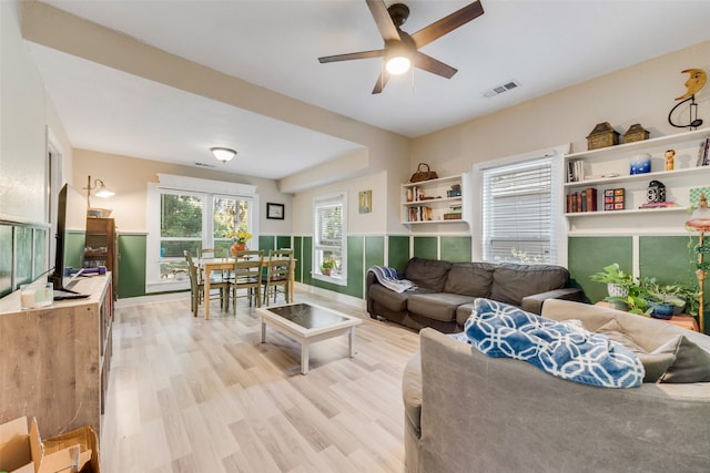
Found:
M 417 286 L 395 292 L 378 282 L 373 271 L 366 281 L 367 311 L 419 330 L 432 327 L 443 332 L 463 329 L 478 297 L 498 300 L 540 313 L 549 298 L 584 300 L 584 291 L 569 287 L 569 271 L 561 266 L 511 263 L 448 263 L 414 257 L 400 279 Z

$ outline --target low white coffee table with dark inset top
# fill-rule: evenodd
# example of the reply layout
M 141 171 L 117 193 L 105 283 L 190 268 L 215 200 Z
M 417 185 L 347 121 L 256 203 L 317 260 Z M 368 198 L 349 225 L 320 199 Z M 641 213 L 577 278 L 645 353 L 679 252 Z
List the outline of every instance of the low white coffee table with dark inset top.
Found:
M 262 343 L 266 342 L 267 325 L 301 343 L 303 374 L 308 374 L 308 348 L 316 341 L 347 333 L 348 354 L 355 356 L 355 327 L 363 322 L 357 317 L 313 304 L 260 307 L 256 313 L 262 318 Z

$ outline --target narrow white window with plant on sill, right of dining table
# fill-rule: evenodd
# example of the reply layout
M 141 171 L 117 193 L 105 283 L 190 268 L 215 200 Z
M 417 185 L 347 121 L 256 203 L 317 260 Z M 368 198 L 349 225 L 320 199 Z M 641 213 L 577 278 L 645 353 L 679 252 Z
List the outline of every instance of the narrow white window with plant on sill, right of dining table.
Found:
M 342 286 L 347 284 L 346 195 L 314 202 L 313 276 Z

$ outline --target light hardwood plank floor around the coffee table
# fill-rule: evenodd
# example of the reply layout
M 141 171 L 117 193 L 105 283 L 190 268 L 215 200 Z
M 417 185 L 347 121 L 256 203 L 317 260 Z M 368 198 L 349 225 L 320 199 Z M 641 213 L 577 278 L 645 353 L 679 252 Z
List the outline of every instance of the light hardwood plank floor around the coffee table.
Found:
M 363 318 L 355 358 L 347 337 L 315 343 L 302 376 L 300 346 L 271 328 L 262 345 L 246 299 L 236 316 L 213 301 L 210 320 L 187 298 L 118 308 L 102 471 L 406 472 L 400 382 L 418 335 L 296 301 Z

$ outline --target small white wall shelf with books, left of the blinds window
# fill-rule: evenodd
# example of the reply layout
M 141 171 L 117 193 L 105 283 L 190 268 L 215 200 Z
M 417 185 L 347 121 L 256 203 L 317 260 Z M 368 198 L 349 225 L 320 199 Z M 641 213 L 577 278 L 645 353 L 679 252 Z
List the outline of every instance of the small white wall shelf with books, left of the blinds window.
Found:
M 468 223 L 470 173 L 402 185 L 402 223 L 405 225 Z

